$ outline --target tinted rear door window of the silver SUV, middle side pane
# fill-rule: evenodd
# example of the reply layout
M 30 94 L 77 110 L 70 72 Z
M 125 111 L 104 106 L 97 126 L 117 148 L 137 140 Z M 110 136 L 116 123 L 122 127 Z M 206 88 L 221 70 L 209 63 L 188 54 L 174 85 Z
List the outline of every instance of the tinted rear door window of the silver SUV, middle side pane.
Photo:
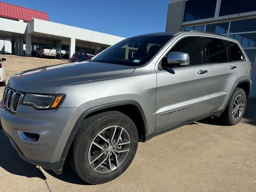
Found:
M 219 63 L 228 62 L 226 47 L 223 40 L 214 38 L 204 38 L 206 46 L 206 62 Z

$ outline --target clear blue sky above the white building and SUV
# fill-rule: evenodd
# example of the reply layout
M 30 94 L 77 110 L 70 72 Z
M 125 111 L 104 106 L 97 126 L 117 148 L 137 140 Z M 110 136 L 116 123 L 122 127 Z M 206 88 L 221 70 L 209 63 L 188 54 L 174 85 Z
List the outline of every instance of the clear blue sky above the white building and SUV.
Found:
M 122 37 L 164 32 L 169 0 L 1 0 L 47 12 L 50 21 Z

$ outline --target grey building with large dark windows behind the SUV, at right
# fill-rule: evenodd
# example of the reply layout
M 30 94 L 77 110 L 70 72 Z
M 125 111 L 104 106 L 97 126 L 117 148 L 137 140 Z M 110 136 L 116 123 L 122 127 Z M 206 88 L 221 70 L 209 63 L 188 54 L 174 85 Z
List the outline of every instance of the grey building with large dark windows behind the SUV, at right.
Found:
M 254 64 L 250 97 L 256 97 L 256 0 L 170 0 L 166 31 L 190 30 L 240 42 Z

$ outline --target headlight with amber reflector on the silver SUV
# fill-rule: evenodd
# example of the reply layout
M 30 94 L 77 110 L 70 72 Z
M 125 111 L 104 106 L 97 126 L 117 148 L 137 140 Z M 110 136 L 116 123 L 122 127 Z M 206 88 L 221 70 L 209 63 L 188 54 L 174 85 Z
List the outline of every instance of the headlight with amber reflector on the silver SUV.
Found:
M 64 95 L 39 95 L 27 93 L 22 104 L 30 105 L 35 109 L 56 109 L 61 103 Z

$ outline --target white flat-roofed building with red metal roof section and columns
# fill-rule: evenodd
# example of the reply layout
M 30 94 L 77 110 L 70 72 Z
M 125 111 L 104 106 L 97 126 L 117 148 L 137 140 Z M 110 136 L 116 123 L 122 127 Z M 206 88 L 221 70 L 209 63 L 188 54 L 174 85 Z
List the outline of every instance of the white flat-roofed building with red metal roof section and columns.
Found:
M 39 46 L 52 46 L 56 58 L 74 52 L 99 53 L 124 38 L 50 22 L 48 14 L 0 2 L 0 50 L 31 56 Z

